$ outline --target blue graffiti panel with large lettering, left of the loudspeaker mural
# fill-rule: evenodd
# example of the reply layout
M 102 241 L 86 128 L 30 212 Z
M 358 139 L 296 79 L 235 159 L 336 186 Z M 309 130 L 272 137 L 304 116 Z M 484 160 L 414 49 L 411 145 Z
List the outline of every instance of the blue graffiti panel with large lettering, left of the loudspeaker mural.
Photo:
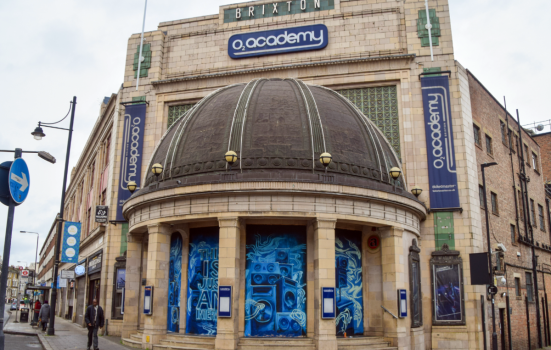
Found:
M 190 229 L 186 333 L 216 335 L 218 227 Z

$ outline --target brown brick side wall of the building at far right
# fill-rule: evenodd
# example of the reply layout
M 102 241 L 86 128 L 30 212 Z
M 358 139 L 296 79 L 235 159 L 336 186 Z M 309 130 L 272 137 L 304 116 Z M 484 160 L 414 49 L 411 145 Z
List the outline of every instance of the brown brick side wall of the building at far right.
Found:
M 516 142 L 513 141 L 513 148 L 515 149 L 512 152 L 512 159 L 510 155 L 510 149 L 508 146 L 508 138 L 505 139 L 505 142 L 502 140 L 501 134 L 501 123 L 504 123 L 507 126 L 507 119 L 505 116 L 505 110 L 502 106 L 496 101 L 494 97 L 484 88 L 484 86 L 476 79 L 476 77 L 469 72 L 469 89 L 471 97 L 471 106 L 472 106 L 472 116 L 473 123 L 480 128 L 480 139 L 481 145 L 476 145 L 476 158 L 478 164 L 478 175 L 479 183 L 482 185 L 482 172 L 480 170 L 480 165 L 485 162 L 497 162 L 498 165 L 486 168 L 486 187 L 487 187 L 487 202 L 489 209 L 489 223 L 490 223 L 490 241 L 491 248 L 496 249 L 497 243 L 503 243 L 507 249 L 504 253 L 504 262 L 515 265 L 507 266 L 507 273 L 505 275 L 507 283 L 503 284 L 500 282 L 501 277 L 498 277 L 498 287 L 499 293 L 496 295 L 496 323 L 497 323 L 497 333 L 498 333 L 498 346 L 501 349 L 501 333 L 500 333 L 500 319 L 499 319 L 499 309 L 505 308 L 505 297 L 502 297 L 504 292 L 508 292 L 510 296 L 510 307 L 512 309 L 511 317 L 511 335 L 513 341 L 514 349 L 525 349 L 528 348 L 528 326 L 526 321 L 526 278 L 525 272 L 531 272 L 532 268 L 532 253 L 531 248 L 524 244 L 520 243 L 518 240 L 518 232 L 524 235 L 524 221 L 519 219 L 517 224 L 517 210 L 520 215 L 520 210 L 515 207 L 515 194 L 513 192 L 513 186 L 518 193 L 518 188 L 520 186 L 518 176 L 519 172 L 519 152 L 516 148 Z M 509 120 L 509 129 L 513 130 L 513 134 L 518 136 L 518 125 L 516 121 L 508 116 Z M 486 146 L 486 136 L 491 137 L 492 141 L 492 152 L 488 151 Z M 526 132 L 522 133 L 523 142 L 529 148 L 529 161 L 531 162 L 532 152 L 540 154 L 540 147 Z M 515 137 L 513 137 L 515 140 Z M 551 137 L 549 138 L 551 141 Z M 550 142 L 551 145 L 551 142 Z M 539 159 L 542 159 L 540 156 Z M 513 166 L 513 170 L 511 168 Z M 526 163 L 526 175 L 530 177 L 530 182 L 528 184 L 528 195 L 531 199 L 534 200 L 535 210 L 536 210 L 536 226 L 534 227 L 534 240 L 539 242 L 539 244 L 551 245 L 550 236 L 549 236 L 549 227 L 546 214 L 545 206 L 545 191 L 544 191 L 544 176 L 542 175 L 541 168 L 536 171 L 532 166 Z M 513 175 L 513 172 L 515 175 Z M 493 213 L 491 207 L 491 193 L 497 194 L 497 203 L 498 203 L 498 212 Z M 518 200 L 517 200 L 518 203 Z M 545 225 L 543 228 L 540 227 L 539 218 L 538 218 L 538 208 L 537 205 L 541 205 L 544 208 L 544 222 Z M 486 235 L 486 223 L 484 220 L 484 209 L 482 211 L 482 232 L 484 236 Z M 517 234 L 515 237 L 515 242 L 511 238 L 511 224 L 517 227 Z M 520 226 L 520 230 L 518 230 Z M 485 249 L 487 249 L 486 239 L 484 239 Z M 520 253 L 520 256 L 517 256 L 517 253 Z M 543 264 L 551 263 L 551 253 L 536 248 L 536 255 L 538 256 L 538 270 L 542 268 L 546 271 L 551 271 Z M 493 259 L 493 265 L 495 266 L 495 259 Z M 523 268 L 524 267 L 524 268 Z M 503 272 L 500 273 L 504 275 Z M 515 274 L 520 277 L 520 294 L 521 296 L 515 295 Z M 541 302 L 541 296 L 544 295 L 544 283 L 545 290 L 551 291 L 551 276 L 546 275 L 545 279 L 542 279 L 542 273 L 538 273 L 538 286 L 539 286 L 539 300 Z M 551 293 L 548 296 L 551 299 Z M 487 312 L 491 317 L 491 301 L 487 301 Z M 535 302 L 529 303 L 529 313 L 530 313 L 530 340 L 532 342 L 532 347 L 537 347 L 537 321 L 536 321 L 536 305 Z M 506 315 L 506 314 L 505 314 Z M 542 319 L 542 328 L 543 328 L 543 319 Z M 501 325 L 502 330 L 506 330 L 506 316 L 505 322 Z M 487 319 L 487 331 L 492 331 L 492 320 L 491 318 Z M 507 337 L 506 337 L 507 338 Z M 544 336 L 542 333 L 542 339 Z M 506 340 L 507 344 L 507 340 Z

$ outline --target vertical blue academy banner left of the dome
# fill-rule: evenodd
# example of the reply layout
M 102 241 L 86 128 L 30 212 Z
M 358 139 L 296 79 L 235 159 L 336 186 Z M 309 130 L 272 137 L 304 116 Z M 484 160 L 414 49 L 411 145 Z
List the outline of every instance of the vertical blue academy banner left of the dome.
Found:
M 128 183 L 135 181 L 138 189 L 141 186 L 145 110 L 145 103 L 126 106 L 123 123 L 117 221 L 126 221 L 122 216 L 122 206 L 132 195 L 127 188 Z

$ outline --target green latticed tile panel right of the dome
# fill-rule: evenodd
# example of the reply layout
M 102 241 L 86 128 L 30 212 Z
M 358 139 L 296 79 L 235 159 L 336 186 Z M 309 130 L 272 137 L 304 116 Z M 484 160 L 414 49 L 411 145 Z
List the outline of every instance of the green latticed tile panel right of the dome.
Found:
M 400 118 L 396 86 L 338 90 L 355 104 L 383 132 L 399 158 Z

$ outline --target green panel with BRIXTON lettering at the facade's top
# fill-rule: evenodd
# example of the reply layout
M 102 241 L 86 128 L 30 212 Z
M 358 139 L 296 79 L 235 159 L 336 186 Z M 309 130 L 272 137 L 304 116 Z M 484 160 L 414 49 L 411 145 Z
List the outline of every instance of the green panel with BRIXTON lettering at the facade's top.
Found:
M 246 21 L 249 19 L 259 19 L 259 18 L 268 18 L 268 17 L 281 17 L 286 15 L 294 15 L 299 13 L 314 12 L 314 11 L 325 11 L 333 10 L 335 8 L 334 0 L 320 0 L 320 7 L 315 8 L 315 0 L 306 0 L 306 9 L 301 10 L 300 0 L 293 0 L 291 2 L 291 11 L 289 11 L 289 5 L 287 1 L 275 2 L 277 4 L 277 13 L 273 13 L 274 6 L 273 3 L 268 3 L 265 5 L 256 5 L 254 6 L 254 16 L 249 16 L 249 6 L 240 7 L 241 18 L 236 18 L 237 9 L 228 9 L 224 10 L 224 23 Z M 264 7 L 264 14 L 262 14 L 262 8 Z

